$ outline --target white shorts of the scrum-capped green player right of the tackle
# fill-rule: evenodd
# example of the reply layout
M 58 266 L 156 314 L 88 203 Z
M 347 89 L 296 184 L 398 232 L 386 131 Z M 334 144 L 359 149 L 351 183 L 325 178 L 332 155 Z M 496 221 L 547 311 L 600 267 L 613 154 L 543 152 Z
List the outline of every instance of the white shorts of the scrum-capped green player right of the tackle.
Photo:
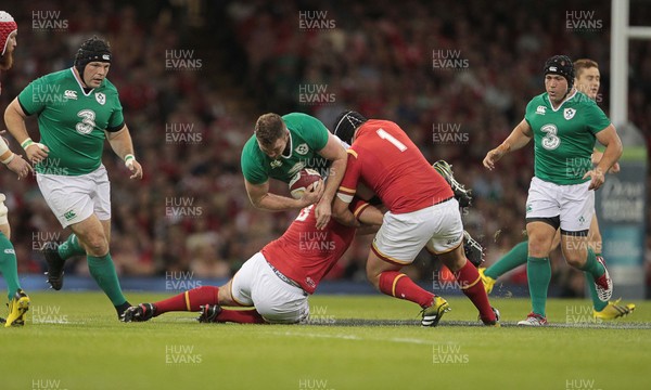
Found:
M 561 231 L 588 231 L 595 213 L 595 192 L 589 186 L 589 181 L 559 185 L 534 177 L 526 199 L 526 218 L 560 217 Z

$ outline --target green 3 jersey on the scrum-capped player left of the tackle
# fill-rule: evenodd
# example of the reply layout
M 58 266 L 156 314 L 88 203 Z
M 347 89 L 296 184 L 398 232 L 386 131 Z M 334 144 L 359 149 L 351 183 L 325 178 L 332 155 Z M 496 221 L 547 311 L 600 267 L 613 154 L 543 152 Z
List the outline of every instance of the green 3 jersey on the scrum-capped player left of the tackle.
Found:
M 38 115 L 40 142 L 50 148 L 37 164 L 39 173 L 79 176 L 102 164 L 104 130 L 120 130 L 125 120 L 117 89 L 104 79 L 85 93 L 72 68 L 34 80 L 18 95 L 27 115 Z

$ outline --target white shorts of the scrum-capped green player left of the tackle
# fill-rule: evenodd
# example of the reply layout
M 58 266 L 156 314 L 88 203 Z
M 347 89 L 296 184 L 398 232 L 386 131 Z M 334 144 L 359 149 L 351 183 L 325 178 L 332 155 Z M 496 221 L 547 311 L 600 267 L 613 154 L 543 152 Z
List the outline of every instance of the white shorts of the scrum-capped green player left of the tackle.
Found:
M 37 173 L 38 187 L 63 227 L 81 222 L 93 212 L 111 219 L 111 183 L 103 165 L 81 176 Z

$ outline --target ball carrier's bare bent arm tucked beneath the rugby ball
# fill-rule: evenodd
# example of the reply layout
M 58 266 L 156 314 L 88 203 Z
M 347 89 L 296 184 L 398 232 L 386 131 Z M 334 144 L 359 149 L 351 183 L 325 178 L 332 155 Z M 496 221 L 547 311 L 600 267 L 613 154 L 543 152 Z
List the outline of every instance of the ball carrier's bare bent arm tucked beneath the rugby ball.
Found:
M 312 184 L 314 185 L 314 184 Z M 251 204 L 258 209 L 268 211 L 283 211 L 291 209 L 302 209 L 317 202 L 323 193 L 323 185 L 317 186 L 317 190 L 312 190 L 312 185 L 307 187 L 305 194 L 301 199 L 294 199 L 291 197 L 272 194 L 269 192 L 269 181 L 267 180 L 260 184 L 253 184 L 248 180 L 244 179 L 244 186 L 248 194 Z

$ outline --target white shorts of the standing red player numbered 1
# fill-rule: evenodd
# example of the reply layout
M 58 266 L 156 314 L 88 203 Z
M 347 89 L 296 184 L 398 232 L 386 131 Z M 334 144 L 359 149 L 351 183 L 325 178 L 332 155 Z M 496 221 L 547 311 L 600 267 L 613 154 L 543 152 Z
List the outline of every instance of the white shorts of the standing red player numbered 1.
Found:
M 413 212 L 386 212 L 372 249 L 385 261 L 406 265 L 425 246 L 441 255 L 454 250 L 462 240 L 459 203 L 452 198 Z

